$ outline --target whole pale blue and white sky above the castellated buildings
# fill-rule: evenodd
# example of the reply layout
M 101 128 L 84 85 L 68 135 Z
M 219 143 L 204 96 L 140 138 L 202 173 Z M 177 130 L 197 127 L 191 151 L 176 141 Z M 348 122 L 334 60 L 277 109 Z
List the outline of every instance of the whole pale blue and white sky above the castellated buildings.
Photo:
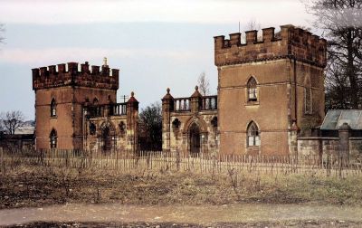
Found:
M 0 112 L 24 111 L 33 119 L 31 69 L 90 62 L 120 69 L 119 97 L 135 91 L 144 108 L 193 93 L 205 71 L 216 93 L 214 36 L 262 27 L 310 26 L 300 0 L 0 0 Z M 121 101 L 121 100 L 119 100 Z

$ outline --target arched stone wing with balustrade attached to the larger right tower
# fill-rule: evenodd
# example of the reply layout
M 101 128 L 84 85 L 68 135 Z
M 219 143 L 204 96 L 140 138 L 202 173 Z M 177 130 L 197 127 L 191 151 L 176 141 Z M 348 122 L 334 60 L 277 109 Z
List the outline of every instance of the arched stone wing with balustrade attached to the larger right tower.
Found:
M 197 155 L 218 152 L 217 97 L 203 97 L 198 88 L 189 98 L 162 99 L 163 151 Z

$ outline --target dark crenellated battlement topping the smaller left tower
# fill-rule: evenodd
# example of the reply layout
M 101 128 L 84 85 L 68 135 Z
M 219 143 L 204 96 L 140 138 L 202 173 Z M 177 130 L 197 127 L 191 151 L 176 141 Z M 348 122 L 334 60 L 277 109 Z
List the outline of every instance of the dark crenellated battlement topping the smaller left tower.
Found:
M 102 65 L 101 71 L 100 66 L 90 67 L 88 62 L 81 65 L 78 62 L 68 62 L 57 66 L 33 69 L 33 90 L 70 85 L 108 90 L 119 89 L 119 70 L 110 70 L 108 65 Z

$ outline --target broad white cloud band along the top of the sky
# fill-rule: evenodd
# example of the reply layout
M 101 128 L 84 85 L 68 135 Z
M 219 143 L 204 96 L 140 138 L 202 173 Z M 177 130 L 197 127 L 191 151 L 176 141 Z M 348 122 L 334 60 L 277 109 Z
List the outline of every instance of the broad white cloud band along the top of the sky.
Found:
M 291 16 L 292 12 L 292 16 Z M 262 24 L 281 21 L 300 24 L 306 17 L 299 0 L 5 0 L 3 23 L 83 24 L 119 22 L 172 22 L 237 24 L 257 18 Z

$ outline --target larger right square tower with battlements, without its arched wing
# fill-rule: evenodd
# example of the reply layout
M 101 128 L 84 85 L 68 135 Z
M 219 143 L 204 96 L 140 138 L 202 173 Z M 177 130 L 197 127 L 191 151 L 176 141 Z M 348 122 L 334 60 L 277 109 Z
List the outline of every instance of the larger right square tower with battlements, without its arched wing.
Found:
M 288 155 L 301 129 L 324 119 L 324 68 L 327 42 L 281 26 L 214 37 L 218 70 L 220 153 Z

